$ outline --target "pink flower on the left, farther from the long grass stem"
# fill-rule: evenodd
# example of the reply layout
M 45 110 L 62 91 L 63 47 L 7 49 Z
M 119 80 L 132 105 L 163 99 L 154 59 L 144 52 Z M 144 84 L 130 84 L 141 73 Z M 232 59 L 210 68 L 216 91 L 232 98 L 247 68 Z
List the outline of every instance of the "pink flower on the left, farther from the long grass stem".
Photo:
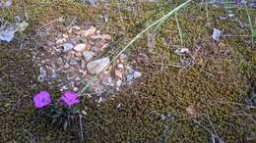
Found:
M 33 103 L 36 109 L 43 108 L 51 102 L 50 94 L 47 91 L 40 91 L 33 96 Z

